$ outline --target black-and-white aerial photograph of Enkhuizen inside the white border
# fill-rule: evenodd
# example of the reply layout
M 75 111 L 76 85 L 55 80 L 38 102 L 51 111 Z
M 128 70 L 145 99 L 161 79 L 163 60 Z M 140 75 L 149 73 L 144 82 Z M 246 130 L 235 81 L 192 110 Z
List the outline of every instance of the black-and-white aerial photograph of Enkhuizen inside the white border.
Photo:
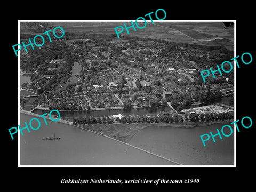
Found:
M 234 134 L 200 137 L 234 121 L 234 69 L 200 73 L 234 58 L 234 26 L 155 21 L 118 38 L 124 23 L 19 21 L 20 42 L 45 38 L 19 52 L 20 126 L 47 113 L 20 135 L 20 165 L 234 165 Z

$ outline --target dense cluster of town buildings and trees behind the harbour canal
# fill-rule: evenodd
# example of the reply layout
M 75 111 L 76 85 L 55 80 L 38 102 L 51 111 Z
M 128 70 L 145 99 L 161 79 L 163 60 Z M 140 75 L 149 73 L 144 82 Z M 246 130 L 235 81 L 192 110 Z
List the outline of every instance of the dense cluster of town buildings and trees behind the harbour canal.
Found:
M 227 81 L 202 83 L 198 76 L 201 67 L 195 60 L 212 58 L 217 51 L 213 53 L 180 45 L 170 49 L 168 42 L 148 39 L 135 41 L 105 36 L 70 39 L 59 39 L 37 53 L 21 53 L 22 69 L 35 74 L 33 82 L 23 87 L 40 89 L 40 106 L 90 110 L 158 107 L 167 106 L 167 103 L 170 106 L 171 101 L 177 100 L 182 108 L 190 110 L 198 103 L 234 92 L 234 85 Z M 81 66 L 80 73 L 72 73 L 74 62 Z M 70 85 L 72 83 L 74 86 Z M 51 86 L 46 86 L 48 84 Z M 205 111 L 194 108 L 195 113 Z

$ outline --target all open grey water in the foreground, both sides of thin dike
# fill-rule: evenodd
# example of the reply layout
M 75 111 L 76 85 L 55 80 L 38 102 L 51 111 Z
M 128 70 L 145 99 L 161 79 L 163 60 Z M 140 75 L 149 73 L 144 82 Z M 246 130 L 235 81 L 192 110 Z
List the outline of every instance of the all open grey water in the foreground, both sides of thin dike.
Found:
M 21 113 L 21 122 L 29 122 L 31 118 L 33 116 Z M 77 126 L 47 122 L 49 125 L 41 120 L 40 129 L 20 136 L 21 165 L 176 165 Z M 223 140 L 216 138 L 215 143 L 209 140 L 206 147 L 199 137 L 223 124 L 190 128 L 150 125 L 138 130 L 127 142 L 183 165 L 233 165 L 233 135 Z M 123 127 L 122 124 L 117 126 Z M 84 127 L 89 129 L 89 126 Z M 42 140 L 52 137 L 53 133 L 61 139 Z

